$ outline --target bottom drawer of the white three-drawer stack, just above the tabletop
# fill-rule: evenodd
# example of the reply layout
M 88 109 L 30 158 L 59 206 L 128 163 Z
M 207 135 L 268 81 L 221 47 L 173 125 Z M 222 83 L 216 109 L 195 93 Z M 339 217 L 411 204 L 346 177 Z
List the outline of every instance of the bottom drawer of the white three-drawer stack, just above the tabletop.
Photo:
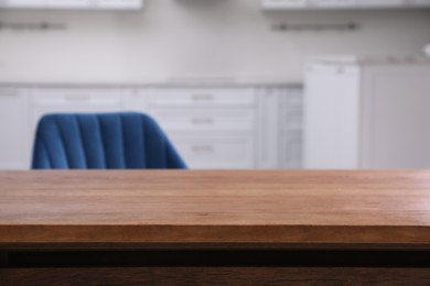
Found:
M 255 166 L 251 136 L 171 136 L 171 140 L 190 168 L 252 168 Z

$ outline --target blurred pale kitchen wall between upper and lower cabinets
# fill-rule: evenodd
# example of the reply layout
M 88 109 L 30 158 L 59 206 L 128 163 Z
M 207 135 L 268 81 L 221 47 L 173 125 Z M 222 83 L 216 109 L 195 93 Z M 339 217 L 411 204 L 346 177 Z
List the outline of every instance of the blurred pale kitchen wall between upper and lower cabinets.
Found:
M 148 81 L 176 77 L 301 80 L 318 54 L 410 54 L 430 43 L 430 9 L 264 12 L 259 0 L 146 0 L 142 11 L 0 11 L 1 81 Z M 356 32 L 277 32 L 272 24 L 344 23 Z

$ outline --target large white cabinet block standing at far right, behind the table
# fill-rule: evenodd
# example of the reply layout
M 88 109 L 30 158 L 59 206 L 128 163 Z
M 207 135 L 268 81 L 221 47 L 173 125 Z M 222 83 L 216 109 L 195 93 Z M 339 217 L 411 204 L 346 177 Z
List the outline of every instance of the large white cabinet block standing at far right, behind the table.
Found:
M 430 63 L 315 59 L 305 74 L 307 168 L 430 167 Z

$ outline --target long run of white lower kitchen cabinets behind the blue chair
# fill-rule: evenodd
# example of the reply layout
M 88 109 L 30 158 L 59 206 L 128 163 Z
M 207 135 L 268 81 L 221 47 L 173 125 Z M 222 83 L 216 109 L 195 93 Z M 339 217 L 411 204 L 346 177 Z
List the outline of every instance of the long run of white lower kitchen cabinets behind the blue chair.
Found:
M 30 167 L 43 114 L 110 111 L 152 116 L 191 168 L 297 168 L 299 91 L 270 85 L 0 86 L 0 168 Z

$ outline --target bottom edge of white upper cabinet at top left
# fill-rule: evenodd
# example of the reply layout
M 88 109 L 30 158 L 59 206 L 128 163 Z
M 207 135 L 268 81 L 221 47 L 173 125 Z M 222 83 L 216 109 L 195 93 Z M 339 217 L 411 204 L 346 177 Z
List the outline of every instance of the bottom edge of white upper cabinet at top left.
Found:
M 143 0 L 2 0 L 0 8 L 11 9 L 96 9 L 138 10 Z

